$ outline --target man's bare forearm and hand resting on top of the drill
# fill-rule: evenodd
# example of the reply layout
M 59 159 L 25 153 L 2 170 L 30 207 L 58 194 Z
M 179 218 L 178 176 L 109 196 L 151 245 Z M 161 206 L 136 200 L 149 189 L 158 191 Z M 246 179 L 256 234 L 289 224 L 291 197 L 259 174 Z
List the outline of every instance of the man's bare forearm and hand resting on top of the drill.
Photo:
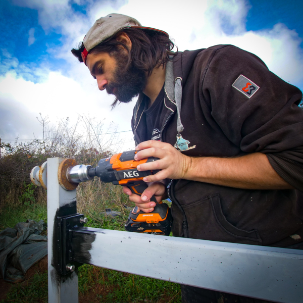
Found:
M 270 165 L 267 156 L 252 153 L 237 158 L 188 157 L 169 143 L 149 140 L 136 146 L 135 160 L 156 157 L 160 160 L 137 166 L 138 171 L 161 170 L 144 177 L 145 182 L 186 179 L 245 189 L 293 188 Z

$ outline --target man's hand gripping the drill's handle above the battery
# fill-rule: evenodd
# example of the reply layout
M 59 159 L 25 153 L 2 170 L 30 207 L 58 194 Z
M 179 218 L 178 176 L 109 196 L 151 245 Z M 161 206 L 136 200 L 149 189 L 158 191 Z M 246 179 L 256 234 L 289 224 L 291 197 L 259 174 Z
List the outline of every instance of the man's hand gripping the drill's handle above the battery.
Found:
M 148 187 L 139 196 L 131 192 L 131 190 L 123 186 L 123 192 L 129 195 L 129 199 L 144 213 L 150 213 L 154 210 L 155 202 L 150 201 L 150 198 L 155 195 L 156 200 L 160 202 L 166 196 L 166 187 L 161 182 L 148 183 Z

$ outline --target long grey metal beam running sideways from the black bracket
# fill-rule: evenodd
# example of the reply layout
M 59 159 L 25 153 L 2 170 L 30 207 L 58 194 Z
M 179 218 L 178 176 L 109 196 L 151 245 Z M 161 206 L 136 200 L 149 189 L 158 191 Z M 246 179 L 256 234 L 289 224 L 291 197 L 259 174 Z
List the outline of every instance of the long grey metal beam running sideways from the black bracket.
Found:
M 82 242 L 78 262 L 274 302 L 303 301 L 301 250 L 87 227 L 72 238 Z

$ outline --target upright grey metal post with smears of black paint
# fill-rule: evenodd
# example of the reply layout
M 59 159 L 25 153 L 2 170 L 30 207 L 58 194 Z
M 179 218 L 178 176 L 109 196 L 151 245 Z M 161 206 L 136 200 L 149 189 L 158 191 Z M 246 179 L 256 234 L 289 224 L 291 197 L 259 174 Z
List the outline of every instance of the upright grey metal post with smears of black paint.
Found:
M 64 159 L 47 159 L 47 238 L 48 238 L 48 302 L 78 302 L 78 272 L 60 273 L 61 220 L 77 213 L 76 189 L 65 190 L 59 184 L 58 169 Z

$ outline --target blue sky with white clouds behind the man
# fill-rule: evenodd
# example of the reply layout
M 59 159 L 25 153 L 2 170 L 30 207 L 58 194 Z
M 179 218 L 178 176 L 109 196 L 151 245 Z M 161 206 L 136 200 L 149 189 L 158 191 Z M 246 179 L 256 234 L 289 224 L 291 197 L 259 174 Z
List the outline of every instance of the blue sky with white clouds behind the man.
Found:
M 153 3 L 2 0 L 0 137 L 31 138 L 33 132 L 39 132 L 35 119 L 39 112 L 49 115 L 54 123 L 79 113 L 104 113 L 110 121 L 119 121 L 121 130 L 130 129 L 132 106 L 110 112 L 112 98 L 98 92 L 88 71 L 70 54 L 95 20 L 112 12 L 166 30 L 181 51 L 221 43 L 242 47 L 261 57 L 282 79 L 303 90 L 302 1 L 189 0 L 184 6 L 184 2 L 176 0 L 173 7 L 169 1 Z M 161 7 L 161 12 L 155 7 Z M 165 18 L 168 10 L 171 22 Z M 188 17 L 186 26 L 180 22 L 184 17 Z M 83 106 L 87 96 L 92 100 L 91 107 Z M 67 104 L 69 98 L 73 102 Z M 58 106 L 63 106 L 63 110 L 58 110 Z

